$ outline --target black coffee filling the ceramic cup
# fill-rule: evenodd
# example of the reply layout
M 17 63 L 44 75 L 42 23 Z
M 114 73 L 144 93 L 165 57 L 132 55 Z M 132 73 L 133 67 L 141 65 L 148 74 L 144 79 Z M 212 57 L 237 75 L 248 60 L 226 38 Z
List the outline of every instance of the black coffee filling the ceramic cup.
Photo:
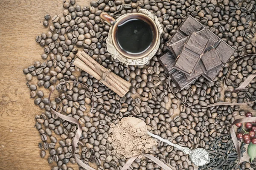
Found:
M 153 40 L 151 27 L 143 20 L 131 19 L 116 29 L 119 47 L 128 54 L 141 54 L 148 50 Z

